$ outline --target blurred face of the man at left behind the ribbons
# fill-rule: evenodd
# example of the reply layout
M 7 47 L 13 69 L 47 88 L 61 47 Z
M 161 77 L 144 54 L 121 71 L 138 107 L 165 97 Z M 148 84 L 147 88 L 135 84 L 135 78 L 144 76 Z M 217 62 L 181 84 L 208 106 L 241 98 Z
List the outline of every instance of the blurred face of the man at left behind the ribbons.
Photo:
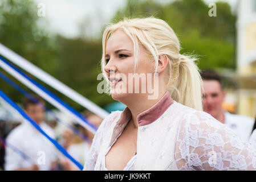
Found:
M 38 124 L 44 119 L 44 110 L 40 105 L 29 104 L 25 111 L 27 115 Z

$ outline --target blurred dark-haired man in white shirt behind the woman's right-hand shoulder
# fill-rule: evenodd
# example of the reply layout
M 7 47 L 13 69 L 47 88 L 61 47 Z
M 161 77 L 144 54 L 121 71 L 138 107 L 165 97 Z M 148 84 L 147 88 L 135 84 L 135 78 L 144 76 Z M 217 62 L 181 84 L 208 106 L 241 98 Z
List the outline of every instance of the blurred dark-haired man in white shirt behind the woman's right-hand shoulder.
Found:
M 225 100 L 226 92 L 222 87 L 221 77 L 216 72 L 205 70 L 201 72 L 201 77 L 204 87 L 204 111 L 229 126 L 244 142 L 248 142 L 253 129 L 253 118 L 231 114 L 223 109 L 222 104 Z

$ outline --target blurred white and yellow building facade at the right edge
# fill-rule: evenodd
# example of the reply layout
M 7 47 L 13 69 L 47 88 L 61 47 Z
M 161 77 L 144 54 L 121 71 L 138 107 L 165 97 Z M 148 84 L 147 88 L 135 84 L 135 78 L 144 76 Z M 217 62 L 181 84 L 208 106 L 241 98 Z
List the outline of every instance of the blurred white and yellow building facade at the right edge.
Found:
M 238 1 L 237 113 L 256 116 L 256 0 Z

